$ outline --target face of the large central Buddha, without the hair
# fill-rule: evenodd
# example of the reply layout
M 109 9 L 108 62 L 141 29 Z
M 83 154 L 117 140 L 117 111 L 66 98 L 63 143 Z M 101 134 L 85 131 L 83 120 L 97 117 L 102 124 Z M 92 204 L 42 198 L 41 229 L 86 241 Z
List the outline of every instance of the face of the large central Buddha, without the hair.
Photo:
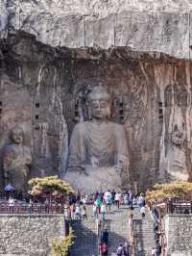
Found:
M 109 102 L 106 99 L 93 99 L 90 102 L 91 117 L 95 119 L 107 119 L 109 115 Z

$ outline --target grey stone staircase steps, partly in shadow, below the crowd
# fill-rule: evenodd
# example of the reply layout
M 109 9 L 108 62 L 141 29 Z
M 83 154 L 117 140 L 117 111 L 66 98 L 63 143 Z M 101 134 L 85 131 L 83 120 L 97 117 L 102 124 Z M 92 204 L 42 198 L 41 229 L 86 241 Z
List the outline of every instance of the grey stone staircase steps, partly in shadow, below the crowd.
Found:
M 87 220 L 72 220 L 71 226 L 77 237 L 71 248 L 70 256 L 98 256 L 98 238 L 95 218 L 91 215 L 92 206 L 87 207 Z M 115 206 L 107 214 L 105 227 L 108 228 L 108 255 L 115 251 L 116 246 L 124 244 L 129 239 L 129 210 Z

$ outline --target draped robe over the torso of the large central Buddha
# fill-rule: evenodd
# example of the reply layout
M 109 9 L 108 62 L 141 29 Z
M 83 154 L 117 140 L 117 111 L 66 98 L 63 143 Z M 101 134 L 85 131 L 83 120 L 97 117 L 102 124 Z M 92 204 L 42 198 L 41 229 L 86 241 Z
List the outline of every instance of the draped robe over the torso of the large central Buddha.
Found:
M 128 161 L 128 146 L 123 126 L 113 122 L 83 122 L 75 126 L 69 149 L 69 169 L 85 166 L 114 166 Z

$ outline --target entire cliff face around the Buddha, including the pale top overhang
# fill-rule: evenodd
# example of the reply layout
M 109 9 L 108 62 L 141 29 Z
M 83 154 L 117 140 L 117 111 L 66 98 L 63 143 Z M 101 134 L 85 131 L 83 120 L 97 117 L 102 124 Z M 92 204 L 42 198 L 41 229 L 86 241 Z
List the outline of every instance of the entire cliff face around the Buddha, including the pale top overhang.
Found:
M 0 3 L 2 150 L 21 123 L 32 175 L 63 173 L 74 125 L 87 119 L 86 91 L 100 80 L 127 133 L 132 186 L 191 178 L 188 1 Z

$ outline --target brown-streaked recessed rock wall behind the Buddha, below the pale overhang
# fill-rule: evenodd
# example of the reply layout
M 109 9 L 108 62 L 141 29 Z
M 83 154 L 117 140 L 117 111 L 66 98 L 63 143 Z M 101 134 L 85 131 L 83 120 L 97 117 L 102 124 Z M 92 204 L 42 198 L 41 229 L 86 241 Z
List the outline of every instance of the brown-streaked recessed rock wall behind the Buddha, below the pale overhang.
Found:
M 1 40 L 0 71 L 1 147 L 21 124 L 33 153 L 32 176 L 64 172 L 74 125 L 88 118 L 84 93 L 99 80 L 111 94 L 110 119 L 127 133 L 132 186 L 143 190 L 170 175 L 190 178 L 189 62 L 128 48 L 53 48 L 19 32 Z

